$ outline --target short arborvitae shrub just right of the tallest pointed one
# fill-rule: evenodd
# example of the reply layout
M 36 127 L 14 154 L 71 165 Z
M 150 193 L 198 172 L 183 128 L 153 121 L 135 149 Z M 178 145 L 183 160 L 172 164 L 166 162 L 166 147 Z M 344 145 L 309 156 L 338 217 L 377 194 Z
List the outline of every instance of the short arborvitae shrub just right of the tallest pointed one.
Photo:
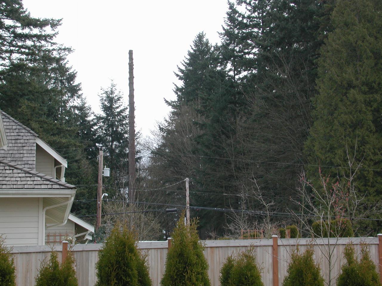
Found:
M 229 256 L 220 269 L 221 286 L 264 286 L 254 248 Z

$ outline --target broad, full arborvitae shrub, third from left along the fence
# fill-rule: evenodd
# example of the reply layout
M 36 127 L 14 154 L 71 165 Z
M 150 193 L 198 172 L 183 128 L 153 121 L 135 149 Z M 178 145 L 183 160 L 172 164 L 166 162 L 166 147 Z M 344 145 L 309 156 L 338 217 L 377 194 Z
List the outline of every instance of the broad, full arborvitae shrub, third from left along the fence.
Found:
M 116 224 L 98 253 L 96 286 L 151 286 L 147 255 L 136 249 L 134 234 Z

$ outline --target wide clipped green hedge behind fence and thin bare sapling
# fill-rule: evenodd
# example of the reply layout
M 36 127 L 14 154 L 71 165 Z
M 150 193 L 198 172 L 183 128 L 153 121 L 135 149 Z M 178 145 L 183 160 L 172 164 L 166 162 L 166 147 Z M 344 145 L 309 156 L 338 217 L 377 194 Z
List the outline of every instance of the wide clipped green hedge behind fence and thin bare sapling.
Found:
M 353 237 L 354 232 L 351 222 L 348 219 L 335 219 L 330 223 L 317 221 L 312 224 L 312 234 L 314 237 Z

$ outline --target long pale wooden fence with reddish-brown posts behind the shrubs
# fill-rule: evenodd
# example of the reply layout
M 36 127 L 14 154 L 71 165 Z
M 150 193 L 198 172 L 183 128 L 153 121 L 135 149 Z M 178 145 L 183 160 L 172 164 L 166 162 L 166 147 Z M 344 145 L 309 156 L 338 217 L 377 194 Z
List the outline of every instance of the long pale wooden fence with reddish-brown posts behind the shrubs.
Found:
M 346 243 L 351 241 L 356 252 L 360 252 L 360 243 L 369 245 L 371 259 L 379 269 L 382 281 L 382 235 L 378 238 L 330 238 L 317 239 L 313 242 L 314 259 L 321 266 L 322 274 L 326 281 L 329 277 L 329 263 L 325 253 L 328 249 L 333 249 L 332 257 L 332 285 L 335 285 L 335 278 L 340 273 L 343 264 L 343 249 Z M 205 245 L 204 255 L 209 263 L 209 277 L 212 286 L 219 285 L 219 271 L 225 259 L 240 251 L 246 250 L 250 245 L 254 246 L 256 260 L 262 269 L 262 281 L 265 286 L 280 286 L 290 262 L 290 254 L 299 246 L 300 251 L 304 251 L 312 241 L 309 239 L 246 239 L 246 240 L 207 240 L 202 241 Z M 139 242 L 138 248 L 148 252 L 148 264 L 150 266 L 150 276 L 154 286 L 160 285 L 160 279 L 164 273 L 165 261 L 170 243 L 167 241 L 146 241 Z M 102 244 L 76 244 L 73 253 L 76 259 L 76 271 L 78 284 L 80 286 L 93 286 L 95 284 L 95 263 L 98 259 L 98 251 Z M 62 259 L 62 245 L 53 246 L 58 251 L 59 259 Z M 33 286 L 34 278 L 40 262 L 49 256 L 51 249 L 49 246 L 18 246 L 14 247 L 15 266 L 18 286 Z M 65 255 L 65 251 L 64 251 Z

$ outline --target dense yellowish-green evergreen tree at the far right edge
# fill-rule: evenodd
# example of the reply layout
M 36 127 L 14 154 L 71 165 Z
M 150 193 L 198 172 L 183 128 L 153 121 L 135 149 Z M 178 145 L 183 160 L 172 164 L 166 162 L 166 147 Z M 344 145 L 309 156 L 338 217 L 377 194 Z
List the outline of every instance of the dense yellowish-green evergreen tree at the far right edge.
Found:
M 373 201 L 382 184 L 381 11 L 377 0 L 337 1 L 334 31 L 318 61 L 319 93 L 305 146 L 309 163 L 320 165 L 324 174 L 349 177 L 349 160 L 353 169 L 361 163 L 356 185 Z M 317 168 L 310 170 L 317 174 Z

